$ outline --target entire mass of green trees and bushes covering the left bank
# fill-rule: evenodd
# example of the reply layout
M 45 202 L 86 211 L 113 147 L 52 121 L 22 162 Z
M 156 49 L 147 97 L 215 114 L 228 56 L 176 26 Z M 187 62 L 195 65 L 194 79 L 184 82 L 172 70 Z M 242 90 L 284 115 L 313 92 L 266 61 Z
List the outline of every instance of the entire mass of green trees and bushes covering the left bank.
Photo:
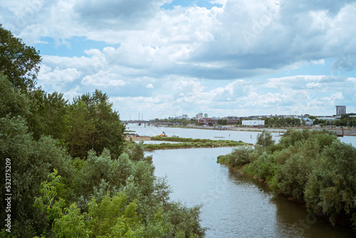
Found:
M 2 208 L 12 194 L 11 211 L 0 211 L 0 237 L 203 237 L 200 207 L 169 201 L 152 157 L 140 144 L 125 145 L 108 95 L 95 90 L 68 103 L 36 88 L 39 53 L 0 31 Z

